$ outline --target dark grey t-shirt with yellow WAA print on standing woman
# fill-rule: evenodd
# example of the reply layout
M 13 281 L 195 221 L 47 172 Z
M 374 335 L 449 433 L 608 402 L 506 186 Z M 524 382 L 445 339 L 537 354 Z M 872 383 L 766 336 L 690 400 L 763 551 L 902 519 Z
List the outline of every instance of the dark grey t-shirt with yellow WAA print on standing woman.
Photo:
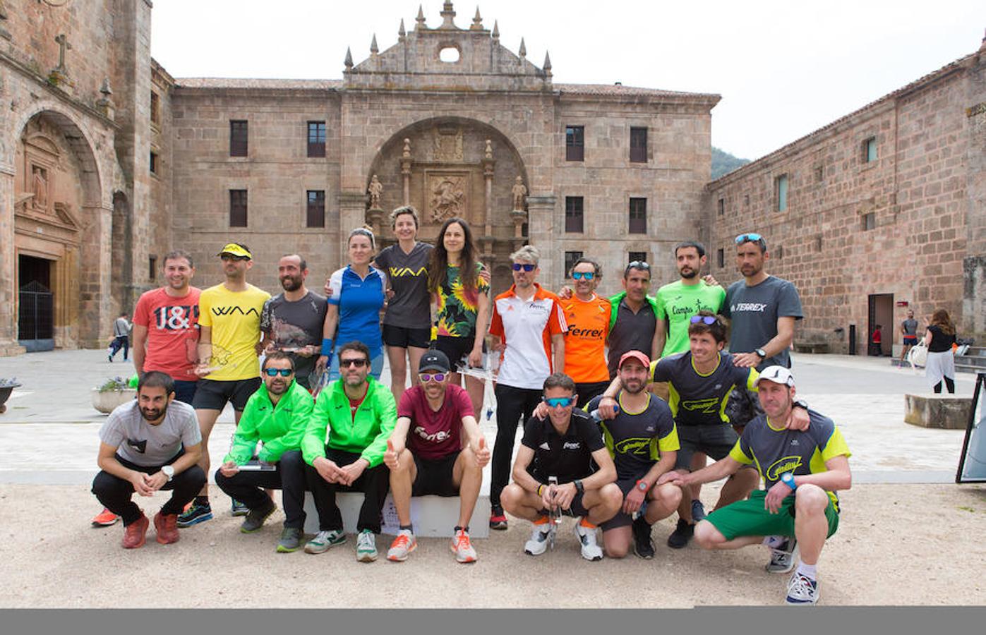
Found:
M 387 273 L 393 297 L 387 301 L 384 323 L 402 328 L 431 328 L 431 298 L 428 295 L 428 260 L 434 247 L 415 243 L 410 253 L 400 245 L 381 249 L 375 258 Z

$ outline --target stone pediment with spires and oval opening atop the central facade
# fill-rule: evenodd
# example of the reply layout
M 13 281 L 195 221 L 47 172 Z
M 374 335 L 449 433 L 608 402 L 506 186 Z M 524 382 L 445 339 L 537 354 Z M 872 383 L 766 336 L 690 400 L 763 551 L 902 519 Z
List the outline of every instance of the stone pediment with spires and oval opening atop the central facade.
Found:
M 347 53 L 345 88 L 551 91 L 547 58 L 544 68 L 534 66 L 526 57 L 523 40 L 520 54 L 515 54 L 500 43 L 498 26 L 492 32 L 482 26 L 478 9 L 468 29 L 459 29 L 455 16 L 452 3 L 446 2 L 442 25 L 429 29 L 419 10 L 414 30 L 405 34 L 401 22 L 397 43 L 387 50 L 378 51 L 375 35 L 367 59 L 354 66 Z M 443 57 L 454 61 L 443 61 Z

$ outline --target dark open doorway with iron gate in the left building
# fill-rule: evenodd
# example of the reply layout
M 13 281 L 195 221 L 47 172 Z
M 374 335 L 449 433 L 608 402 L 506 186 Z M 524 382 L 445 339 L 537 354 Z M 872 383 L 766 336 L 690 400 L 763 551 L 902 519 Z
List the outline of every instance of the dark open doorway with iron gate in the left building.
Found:
M 50 351 L 54 340 L 51 260 L 18 256 L 18 341 L 29 353 Z

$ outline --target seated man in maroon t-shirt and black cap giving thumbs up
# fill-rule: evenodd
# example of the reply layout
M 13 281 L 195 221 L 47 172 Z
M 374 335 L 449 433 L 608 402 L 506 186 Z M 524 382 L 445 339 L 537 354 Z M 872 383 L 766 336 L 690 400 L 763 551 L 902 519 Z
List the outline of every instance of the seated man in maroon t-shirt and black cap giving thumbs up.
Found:
M 387 441 L 384 462 L 390 468 L 390 493 L 400 531 L 387 560 L 402 562 L 417 546 L 411 526 L 411 496 L 458 496 L 459 511 L 452 550 L 458 562 L 475 562 L 469 520 L 479 498 L 483 467 L 490 460 L 486 440 L 472 412 L 469 393 L 449 384 L 451 365 L 445 353 L 421 357 L 421 384 L 404 390 L 397 405 L 397 425 Z

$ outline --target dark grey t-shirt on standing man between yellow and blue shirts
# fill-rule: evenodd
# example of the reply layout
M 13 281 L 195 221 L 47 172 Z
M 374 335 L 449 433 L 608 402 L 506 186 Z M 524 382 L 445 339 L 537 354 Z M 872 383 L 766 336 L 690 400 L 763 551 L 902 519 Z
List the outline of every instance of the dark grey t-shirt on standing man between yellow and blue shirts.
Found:
M 297 302 L 288 302 L 284 294 L 279 293 L 263 303 L 260 311 L 260 330 L 270 333 L 276 348 L 287 349 L 295 361 L 295 378 L 306 388 L 318 355 L 302 357 L 291 349 L 321 344 L 321 327 L 327 311 L 325 298 L 312 291 Z

